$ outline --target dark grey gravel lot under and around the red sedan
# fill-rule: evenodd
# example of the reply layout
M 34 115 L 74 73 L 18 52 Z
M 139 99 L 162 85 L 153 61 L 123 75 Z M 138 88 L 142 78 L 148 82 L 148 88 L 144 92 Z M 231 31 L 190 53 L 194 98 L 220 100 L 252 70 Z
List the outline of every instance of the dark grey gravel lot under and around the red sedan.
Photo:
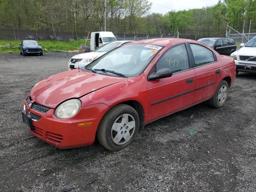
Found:
M 98 142 L 60 150 L 30 134 L 20 111 L 72 55 L 0 54 L 1 192 L 256 191 L 255 74 L 238 74 L 223 108 L 202 103 L 157 120 L 121 151 Z

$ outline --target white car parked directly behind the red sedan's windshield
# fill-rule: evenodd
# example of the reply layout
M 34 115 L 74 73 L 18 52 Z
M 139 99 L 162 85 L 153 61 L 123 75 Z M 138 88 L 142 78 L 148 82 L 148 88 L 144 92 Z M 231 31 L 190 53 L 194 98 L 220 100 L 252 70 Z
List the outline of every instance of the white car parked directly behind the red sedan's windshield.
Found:
M 87 66 L 94 59 L 96 59 L 96 58 L 104 55 L 105 53 L 113 50 L 114 48 L 119 47 L 128 42 L 132 42 L 132 41 L 128 41 L 128 40 L 127 41 L 126 40 L 114 41 L 114 42 L 104 44 L 92 52 L 75 55 L 68 62 L 68 70 Z

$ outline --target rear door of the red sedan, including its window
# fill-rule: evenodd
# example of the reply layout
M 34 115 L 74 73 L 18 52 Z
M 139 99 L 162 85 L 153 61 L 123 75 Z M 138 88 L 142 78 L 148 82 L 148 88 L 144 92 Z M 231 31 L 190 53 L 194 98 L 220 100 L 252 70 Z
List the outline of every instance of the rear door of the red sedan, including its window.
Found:
M 219 84 L 222 63 L 210 49 L 190 43 L 193 67 L 196 74 L 194 104 L 210 99 Z

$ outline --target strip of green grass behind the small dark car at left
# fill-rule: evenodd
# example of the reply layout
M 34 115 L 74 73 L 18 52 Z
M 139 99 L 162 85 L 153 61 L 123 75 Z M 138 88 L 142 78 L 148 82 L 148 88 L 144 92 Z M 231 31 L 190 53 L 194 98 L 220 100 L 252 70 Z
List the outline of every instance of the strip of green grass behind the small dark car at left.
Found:
M 68 50 L 77 50 L 77 47 L 80 48 L 81 43 L 85 43 L 86 40 L 84 39 L 78 39 L 77 42 L 76 40 L 74 41 L 50 41 L 50 40 L 42 40 L 42 41 L 37 41 L 38 43 L 41 44 L 43 48 L 46 48 L 48 52 L 56 52 L 51 49 L 56 49 L 56 50 L 63 50 L 63 51 L 68 51 Z M 12 46 L 18 46 L 21 43 L 21 40 L 0 40 L 0 45 L 6 45 L 11 42 Z M 77 46 L 78 44 L 78 46 Z M 90 44 L 90 41 L 87 41 L 86 44 Z M 19 53 L 19 47 L 15 48 L 7 48 L 7 47 L 0 47 L 0 53 Z

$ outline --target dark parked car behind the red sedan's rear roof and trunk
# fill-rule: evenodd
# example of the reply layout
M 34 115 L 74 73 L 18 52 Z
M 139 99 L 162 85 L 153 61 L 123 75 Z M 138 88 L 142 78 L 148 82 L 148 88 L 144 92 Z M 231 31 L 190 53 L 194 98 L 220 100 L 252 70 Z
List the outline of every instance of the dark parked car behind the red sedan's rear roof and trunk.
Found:
M 236 51 L 236 44 L 233 39 L 229 38 L 202 38 L 198 40 L 214 50 L 216 50 L 221 55 L 230 56 L 232 52 Z

